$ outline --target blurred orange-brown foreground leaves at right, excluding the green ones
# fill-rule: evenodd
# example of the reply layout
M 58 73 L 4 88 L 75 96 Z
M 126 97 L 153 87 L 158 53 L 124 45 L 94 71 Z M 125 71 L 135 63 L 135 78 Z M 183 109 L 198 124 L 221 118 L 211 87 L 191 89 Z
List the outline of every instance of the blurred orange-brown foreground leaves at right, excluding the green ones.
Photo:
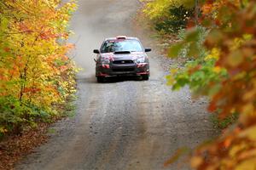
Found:
M 211 96 L 209 110 L 220 111 L 220 118 L 237 112 L 239 119 L 217 141 L 195 151 L 191 162 L 196 169 L 256 168 L 255 8 L 255 2 L 239 0 L 207 1 L 202 6 L 202 25 L 211 29 L 205 46 L 219 49 L 215 66 L 228 72 Z

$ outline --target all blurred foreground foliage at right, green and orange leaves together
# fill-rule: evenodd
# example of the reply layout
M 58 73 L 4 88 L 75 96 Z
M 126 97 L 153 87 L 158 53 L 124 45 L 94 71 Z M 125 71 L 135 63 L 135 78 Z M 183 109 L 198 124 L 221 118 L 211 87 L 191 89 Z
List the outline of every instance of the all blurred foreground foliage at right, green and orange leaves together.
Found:
M 191 166 L 256 169 L 256 3 L 207 0 L 199 4 L 198 20 L 191 20 L 181 41 L 169 49 L 172 57 L 185 51 L 187 60 L 183 67 L 172 69 L 168 83 L 173 89 L 189 85 L 194 94 L 207 95 L 209 111 L 218 112 L 220 120 L 234 114 L 238 120 L 218 139 L 197 148 Z

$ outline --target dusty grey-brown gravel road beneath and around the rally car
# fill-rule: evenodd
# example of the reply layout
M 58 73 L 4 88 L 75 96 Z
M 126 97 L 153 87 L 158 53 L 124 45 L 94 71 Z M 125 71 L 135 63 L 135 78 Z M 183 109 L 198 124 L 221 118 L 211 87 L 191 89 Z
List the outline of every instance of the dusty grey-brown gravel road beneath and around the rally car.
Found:
M 132 28 L 139 5 L 137 0 L 79 1 L 71 23 L 76 32 L 74 59 L 84 68 L 78 76 L 77 115 L 56 123 L 49 142 L 16 169 L 177 169 L 178 163 L 163 167 L 177 148 L 193 148 L 214 135 L 206 102 L 191 101 L 188 89 L 172 92 L 155 53 L 149 54 L 149 81 L 96 83 L 92 50 L 99 48 L 105 37 L 147 39 L 147 34 Z M 189 168 L 185 165 L 182 169 Z

